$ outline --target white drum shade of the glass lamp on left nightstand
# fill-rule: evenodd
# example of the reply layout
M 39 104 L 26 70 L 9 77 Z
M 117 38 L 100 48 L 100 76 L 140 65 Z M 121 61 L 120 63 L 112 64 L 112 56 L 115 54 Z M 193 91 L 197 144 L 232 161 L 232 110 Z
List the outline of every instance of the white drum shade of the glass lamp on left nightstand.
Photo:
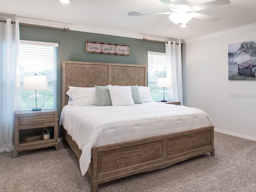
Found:
M 48 89 L 47 77 L 41 75 L 25 76 L 23 90 L 46 90 Z

